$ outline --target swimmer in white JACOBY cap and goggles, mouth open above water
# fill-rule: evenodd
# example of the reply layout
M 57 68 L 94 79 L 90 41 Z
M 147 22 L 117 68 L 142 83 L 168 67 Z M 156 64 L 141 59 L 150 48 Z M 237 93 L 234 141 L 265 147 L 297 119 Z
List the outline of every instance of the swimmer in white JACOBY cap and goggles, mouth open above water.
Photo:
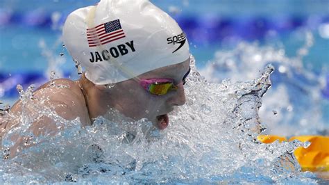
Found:
M 187 38 L 175 20 L 151 2 L 101 0 L 75 10 L 66 19 L 62 39 L 84 69 L 81 79 L 45 83 L 33 93 L 33 104 L 53 108 L 65 120 L 80 118 L 83 127 L 115 109 L 133 120 L 147 118 L 158 129 L 169 125 L 168 113 L 175 106 L 185 104 Z M 21 112 L 18 101 L 10 113 Z M 3 122 L 1 137 L 16 126 L 18 121 Z M 38 116 L 30 129 L 35 136 L 58 131 L 47 115 Z M 20 136 L 12 139 L 14 147 L 28 142 Z

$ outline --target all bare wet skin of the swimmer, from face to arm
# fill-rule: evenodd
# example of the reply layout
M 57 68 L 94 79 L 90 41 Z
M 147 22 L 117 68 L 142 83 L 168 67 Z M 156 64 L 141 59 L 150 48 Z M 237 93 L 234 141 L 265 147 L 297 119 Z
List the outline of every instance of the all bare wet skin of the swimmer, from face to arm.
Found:
M 91 125 L 94 118 L 105 115 L 111 108 L 133 120 L 147 118 L 158 129 L 165 129 L 157 118 L 159 115 L 167 115 L 174 110 L 175 106 L 185 104 L 185 93 L 183 88 L 183 76 L 189 70 L 189 59 L 183 63 L 161 67 L 151 72 L 138 76 L 140 79 L 171 78 L 178 86 L 166 95 L 151 95 L 135 79 L 129 79 L 116 83 L 113 88 L 103 85 L 95 85 L 84 75 L 78 81 L 69 79 L 57 79 L 53 85 L 49 82 L 40 86 L 33 93 L 32 104 L 51 107 L 60 117 L 65 120 L 80 118 L 82 126 Z M 38 115 L 31 106 L 26 106 L 30 115 Z M 22 113 L 22 102 L 16 102 L 10 108 L 12 115 Z M 35 116 L 37 117 L 37 116 Z M 40 117 L 40 116 L 39 116 Z M 18 116 L 17 116 L 18 118 Z M 0 117 L 0 138 L 13 127 L 19 126 L 19 120 L 5 120 Z M 40 134 L 47 136 L 55 135 L 58 132 L 56 122 L 47 115 L 42 115 L 31 124 L 30 129 L 35 136 Z M 10 150 L 10 156 L 21 147 L 28 147 L 28 138 L 16 136 L 15 150 Z M 33 143 L 31 144 L 33 145 Z M 13 152 L 14 151 L 14 152 Z

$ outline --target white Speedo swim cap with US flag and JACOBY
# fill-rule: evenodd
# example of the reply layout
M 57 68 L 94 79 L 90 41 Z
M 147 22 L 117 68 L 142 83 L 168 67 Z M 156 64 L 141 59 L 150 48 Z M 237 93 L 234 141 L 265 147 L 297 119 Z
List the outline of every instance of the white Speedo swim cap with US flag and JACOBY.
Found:
M 189 58 L 180 26 L 147 0 L 101 0 L 75 10 L 64 24 L 63 41 L 85 77 L 98 85 Z

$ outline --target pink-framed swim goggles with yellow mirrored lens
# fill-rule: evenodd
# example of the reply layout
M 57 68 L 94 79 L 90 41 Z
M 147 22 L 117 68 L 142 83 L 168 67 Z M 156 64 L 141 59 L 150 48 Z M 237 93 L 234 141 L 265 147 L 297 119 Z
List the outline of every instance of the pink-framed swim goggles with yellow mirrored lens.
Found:
M 189 67 L 189 70 L 183 77 L 183 85 L 186 83 L 186 78 L 189 75 L 189 72 L 191 71 L 191 67 Z M 167 79 L 167 78 L 161 78 L 161 79 L 141 79 L 140 85 L 147 90 L 152 95 L 165 95 L 171 90 L 177 90 L 178 86 L 174 84 L 174 79 Z

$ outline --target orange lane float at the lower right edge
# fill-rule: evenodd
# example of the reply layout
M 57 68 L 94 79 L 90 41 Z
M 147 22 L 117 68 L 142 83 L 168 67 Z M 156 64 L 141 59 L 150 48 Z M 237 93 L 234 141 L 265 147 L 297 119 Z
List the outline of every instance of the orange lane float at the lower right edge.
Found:
M 288 141 L 285 137 L 275 135 L 260 135 L 258 140 L 262 143 Z M 292 140 L 311 143 L 307 148 L 298 147 L 294 151 L 303 171 L 329 171 L 329 136 L 294 136 L 289 138 L 289 141 Z

